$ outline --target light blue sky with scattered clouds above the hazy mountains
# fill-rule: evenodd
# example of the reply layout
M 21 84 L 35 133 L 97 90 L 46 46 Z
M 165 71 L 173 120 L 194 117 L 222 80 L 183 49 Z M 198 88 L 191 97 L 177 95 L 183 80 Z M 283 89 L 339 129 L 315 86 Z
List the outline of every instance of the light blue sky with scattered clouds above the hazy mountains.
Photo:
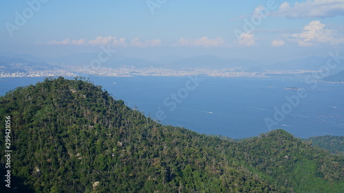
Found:
M 344 0 L 0 1 L 0 52 L 214 55 L 263 62 L 344 52 Z

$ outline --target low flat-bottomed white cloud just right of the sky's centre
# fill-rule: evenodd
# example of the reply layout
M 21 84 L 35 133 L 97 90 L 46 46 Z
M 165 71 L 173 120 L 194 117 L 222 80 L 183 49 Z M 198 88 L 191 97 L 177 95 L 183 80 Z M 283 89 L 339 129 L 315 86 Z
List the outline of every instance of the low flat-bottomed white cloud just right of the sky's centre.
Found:
M 202 38 L 196 39 L 184 39 L 180 38 L 178 43 L 173 44 L 173 46 L 200 46 L 200 47 L 221 47 L 227 46 L 224 38 L 217 37 L 215 39 L 208 38 L 204 36 Z

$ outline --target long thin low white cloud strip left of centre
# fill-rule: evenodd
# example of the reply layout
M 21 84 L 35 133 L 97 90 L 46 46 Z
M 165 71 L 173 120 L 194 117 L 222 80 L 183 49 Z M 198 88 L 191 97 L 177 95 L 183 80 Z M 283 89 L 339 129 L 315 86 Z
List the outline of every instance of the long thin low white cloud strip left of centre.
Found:
M 127 47 L 128 45 L 132 47 L 155 47 L 161 45 L 161 41 L 159 39 L 155 39 L 153 41 L 140 41 L 138 38 L 133 38 L 130 41 L 130 44 L 127 43 L 125 38 L 118 38 L 115 36 L 98 36 L 93 40 L 87 41 L 86 39 L 75 39 L 70 41 L 70 39 L 65 39 L 63 41 L 50 41 L 47 44 L 49 45 L 115 45 L 115 46 L 122 46 Z

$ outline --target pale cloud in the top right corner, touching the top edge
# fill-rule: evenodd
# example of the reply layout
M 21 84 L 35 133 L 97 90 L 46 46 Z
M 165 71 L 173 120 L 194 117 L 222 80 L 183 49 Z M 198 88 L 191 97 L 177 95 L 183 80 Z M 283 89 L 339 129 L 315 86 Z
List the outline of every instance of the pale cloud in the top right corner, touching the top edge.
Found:
M 295 2 L 293 7 L 285 1 L 275 15 L 288 18 L 343 16 L 344 0 L 308 0 Z

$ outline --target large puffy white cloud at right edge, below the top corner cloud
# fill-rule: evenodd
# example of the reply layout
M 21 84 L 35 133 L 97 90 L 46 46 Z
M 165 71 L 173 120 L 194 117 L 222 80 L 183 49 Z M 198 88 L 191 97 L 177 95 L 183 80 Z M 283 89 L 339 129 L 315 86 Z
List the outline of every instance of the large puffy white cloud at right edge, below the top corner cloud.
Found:
M 344 43 L 344 36 L 334 30 L 328 30 L 320 21 L 311 21 L 303 27 L 300 34 L 292 34 L 297 38 L 300 46 L 312 46 L 319 43 L 330 43 L 332 45 Z

